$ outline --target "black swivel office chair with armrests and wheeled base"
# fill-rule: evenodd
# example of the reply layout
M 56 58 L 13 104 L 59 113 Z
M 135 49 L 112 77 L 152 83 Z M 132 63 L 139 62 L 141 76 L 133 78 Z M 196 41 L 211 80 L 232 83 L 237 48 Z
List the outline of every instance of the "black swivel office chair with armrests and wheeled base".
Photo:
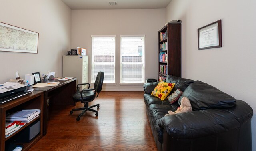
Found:
M 98 75 L 96 77 L 96 80 L 94 82 L 94 89 L 90 89 L 90 84 L 89 83 L 82 83 L 78 84 L 77 87 L 77 92 L 73 95 L 73 100 L 75 102 L 81 102 L 84 103 L 83 108 L 78 108 L 78 109 L 72 109 L 70 111 L 70 114 L 73 113 L 73 111 L 80 111 L 83 110 L 80 115 L 76 118 L 76 121 L 80 120 L 80 117 L 88 110 L 88 111 L 93 111 L 95 112 L 95 116 L 98 116 L 98 111 L 92 109 L 92 107 L 100 108 L 100 104 L 92 105 L 89 107 L 89 102 L 93 101 L 95 98 L 99 96 L 99 93 L 102 89 L 103 85 L 103 79 L 104 79 L 104 72 L 98 72 Z M 88 85 L 88 89 L 82 89 L 82 91 L 79 91 L 80 85 Z M 97 93 L 97 96 L 96 96 Z

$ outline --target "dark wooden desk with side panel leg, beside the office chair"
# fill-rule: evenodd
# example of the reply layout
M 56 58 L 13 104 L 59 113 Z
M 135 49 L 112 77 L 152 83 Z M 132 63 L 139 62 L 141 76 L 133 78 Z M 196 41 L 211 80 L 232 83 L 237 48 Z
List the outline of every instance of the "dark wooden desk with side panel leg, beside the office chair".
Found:
M 36 87 L 34 91 L 44 91 L 44 119 L 43 119 L 43 134 L 47 133 L 48 122 L 48 105 L 76 105 L 73 101 L 73 94 L 76 93 L 76 78 L 66 81 L 57 79 L 48 80 L 46 82 L 60 82 L 57 86 L 52 87 Z M 32 86 L 30 86 L 32 89 Z

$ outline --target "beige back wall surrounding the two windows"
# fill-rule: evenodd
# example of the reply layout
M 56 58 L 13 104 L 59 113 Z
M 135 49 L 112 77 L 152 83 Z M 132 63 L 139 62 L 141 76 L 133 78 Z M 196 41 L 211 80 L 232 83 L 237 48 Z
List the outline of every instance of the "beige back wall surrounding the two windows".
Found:
M 103 90 L 143 91 L 143 84 L 120 85 L 120 35 L 145 35 L 145 79 L 157 79 L 158 30 L 165 19 L 165 9 L 72 10 L 71 47 L 86 48 L 88 82 L 91 82 L 91 35 L 116 35 L 116 85 L 104 84 Z

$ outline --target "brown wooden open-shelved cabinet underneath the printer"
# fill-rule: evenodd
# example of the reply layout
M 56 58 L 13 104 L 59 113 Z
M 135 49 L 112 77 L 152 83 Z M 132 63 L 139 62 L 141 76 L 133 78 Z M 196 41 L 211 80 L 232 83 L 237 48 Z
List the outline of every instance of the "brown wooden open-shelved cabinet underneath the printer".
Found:
M 31 148 L 41 137 L 42 137 L 42 128 L 43 128 L 43 122 L 42 119 L 44 118 L 44 107 L 43 107 L 43 92 L 42 91 L 33 91 L 32 93 L 29 93 L 27 95 L 24 95 L 22 97 L 19 97 L 17 99 L 8 101 L 6 103 L 0 104 L 0 151 L 5 150 L 5 143 L 6 141 L 10 141 L 12 139 L 15 139 L 16 134 L 22 131 L 25 127 L 29 126 L 31 123 L 36 121 L 37 119 L 40 119 L 40 133 L 37 135 L 30 143 L 22 143 L 23 149 L 22 151 L 26 151 L 29 148 Z M 36 119 L 33 119 L 29 123 L 26 123 L 23 127 L 21 127 L 18 131 L 10 135 L 9 137 L 5 138 L 5 119 L 6 114 L 20 111 L 22 109 L 40 109 L 41 113 L 40 116 Z

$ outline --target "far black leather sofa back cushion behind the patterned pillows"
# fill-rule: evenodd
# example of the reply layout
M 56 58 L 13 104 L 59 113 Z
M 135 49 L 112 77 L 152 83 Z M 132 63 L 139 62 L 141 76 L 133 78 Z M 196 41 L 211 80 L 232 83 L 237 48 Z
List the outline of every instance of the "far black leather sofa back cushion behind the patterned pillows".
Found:
M 166 82 L 175 83 L 174 88 L 170 92 L 172 94 L 177 89 L 180 89 L 180 91 L 184 92 L 188 85 L 193 83 L 194 80 L 168 75 L 168 77 L 166 78 Z

